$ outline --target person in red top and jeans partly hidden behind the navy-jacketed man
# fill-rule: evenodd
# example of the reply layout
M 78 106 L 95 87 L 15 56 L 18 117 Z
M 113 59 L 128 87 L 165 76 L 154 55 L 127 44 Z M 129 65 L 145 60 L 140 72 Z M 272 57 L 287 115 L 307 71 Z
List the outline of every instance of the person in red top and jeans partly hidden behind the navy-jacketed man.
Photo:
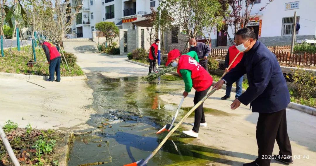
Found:
M 225 62 L 224 62 L 224 66 L 225 66 L 225 71 L 228 72 L 231 69 L 233 69 L 242 59 L 242 57 L 244 56 L 244 53 L 241 52 L 240 55 L 238 55 L 238 57 L 235 59 L 234 63 L 230 66 L 230 68 L 228 69 L 228 66 L 232 63 L 232 61 L 234 60 L 234 58 L 236 57 L 236 55 L 238 54 L 238 50 L 236 48 L 236 46 L 231 46 L 228 48 L 228 52 L 225 58 Z M 242 80 L 244 79 L 244 76 L 241 76 L 237 81 L 236 81 L 236 95 L 235 98 L 237 99 L 241 93 L 242 93 Z M 232 86 L 226 86 L 226 94 L 224 97 L 222 97 L 222 100 L 227 100 L 230 99 L 230 91 L 232 90 Z

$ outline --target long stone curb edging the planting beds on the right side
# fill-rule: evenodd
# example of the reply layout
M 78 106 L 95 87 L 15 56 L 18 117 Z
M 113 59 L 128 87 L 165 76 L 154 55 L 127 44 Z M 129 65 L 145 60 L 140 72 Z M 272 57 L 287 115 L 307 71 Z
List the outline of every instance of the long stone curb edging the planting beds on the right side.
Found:
M 137 64 L 137 65 L 142 65 L 142 66 L 145 66 L 145 67 L 149 67 L 149 65 L 146 65 L 146 64 L 143 64 L 143 63 L 140 63 L 140 62 L 135 62 L 135 61 L 132 61 L 132 60 L 129 60 L 129 59 L 126 59 L 126 61 L 134 63 L 134 64 Z M 161 70 L 161 68 L 158 68 L 158 69 Z M 177 72 L 175 72 L 175 71 L 172 71 L 170 74 L 173 74 L 175 76 L 179 76 L 179 74 Z M 212 85 L 214 85 L 215 83 L 216 83 L 216 81 L 213 81 Z M 226 89 L 226 85 L 223 85 L 222 89 Z M 236 87 L 232 87 L 231 91 L 236 91 Z M 246 89 L 242 89 L 242 92 L 243 93 L 246 92 Z M 305 112 L 307 114 L 316 116 L 316 108 L 308 107 L 308 106 L 301 105 L 301 104 L 294 103 L 294 102 L 290 102 L 288 104 L 288 108 L 293 108 L 293 109 L 296 109 L 298 111 L 302 111 L 302 112 Z

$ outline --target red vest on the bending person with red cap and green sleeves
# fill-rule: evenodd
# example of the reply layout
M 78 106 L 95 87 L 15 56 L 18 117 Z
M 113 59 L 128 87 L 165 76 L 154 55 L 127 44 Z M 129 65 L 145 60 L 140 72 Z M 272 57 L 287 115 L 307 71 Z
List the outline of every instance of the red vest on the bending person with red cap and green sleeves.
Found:
M 190 70 L 193 88 L 197 91 L 208 89 L 212 83 L 213 78 L 210 74 L 193 58 L 189 55 L 181 55 L 178 63 L 178 74 L 181 69 Z M 181 76 L 182 77 L 182 76 Z

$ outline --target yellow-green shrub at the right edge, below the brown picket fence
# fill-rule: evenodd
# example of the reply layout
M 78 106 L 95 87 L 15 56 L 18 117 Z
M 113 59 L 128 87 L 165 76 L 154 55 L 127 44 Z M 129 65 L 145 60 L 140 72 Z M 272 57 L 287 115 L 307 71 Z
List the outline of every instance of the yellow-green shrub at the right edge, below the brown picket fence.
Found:
M 300 98 L 312 98 L 316 91 L 316 75 L 313 71 L 298 68 L 293 74 L 293 83 Z

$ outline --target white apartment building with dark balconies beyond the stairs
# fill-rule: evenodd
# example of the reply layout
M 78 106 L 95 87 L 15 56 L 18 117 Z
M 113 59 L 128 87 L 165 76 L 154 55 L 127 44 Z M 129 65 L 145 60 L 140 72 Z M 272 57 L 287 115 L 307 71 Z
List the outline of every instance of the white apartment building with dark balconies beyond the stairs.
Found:
M 68 34 L 72 33 L 76 38 L 92 38 L 98 22 L 113 22 L 119 29 L 135 28 L 131 22 L 144 19 L 144 15 L 151 13 L 151 7 L 156 10 L 159 0 L 65 0 L 64 4 L 80 7 Z

